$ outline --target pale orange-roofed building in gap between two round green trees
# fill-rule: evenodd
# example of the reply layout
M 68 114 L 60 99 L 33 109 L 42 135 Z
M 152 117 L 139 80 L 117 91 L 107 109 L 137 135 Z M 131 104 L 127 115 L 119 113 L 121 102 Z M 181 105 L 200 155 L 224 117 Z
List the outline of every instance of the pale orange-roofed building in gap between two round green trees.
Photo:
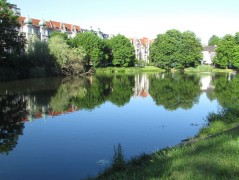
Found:
M 152 43 L 153 40 L 146 37 L 142 39 L 132 38 L 131 44 L 134 46 L 136 59 L 149 63 L 149 48 Z

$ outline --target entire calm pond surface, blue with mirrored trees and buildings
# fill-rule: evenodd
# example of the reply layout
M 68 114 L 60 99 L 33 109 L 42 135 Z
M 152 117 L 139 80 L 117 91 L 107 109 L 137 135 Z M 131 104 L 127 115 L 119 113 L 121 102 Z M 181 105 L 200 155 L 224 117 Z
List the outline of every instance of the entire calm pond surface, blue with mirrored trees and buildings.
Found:
M 0 179 L 95 176 L 192 137 L 237 99 L 235 74 L 152 74 L 0 83 Z M 235 94 L 235 95 L 234 95 Z

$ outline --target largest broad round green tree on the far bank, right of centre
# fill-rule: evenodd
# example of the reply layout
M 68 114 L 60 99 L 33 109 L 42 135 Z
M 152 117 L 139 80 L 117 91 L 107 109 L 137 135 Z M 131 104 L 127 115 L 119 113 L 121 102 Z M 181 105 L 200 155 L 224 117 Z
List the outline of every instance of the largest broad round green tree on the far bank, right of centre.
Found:
M 184 70 L 199 65 L 201 50 L 201 42 L 193 32 L 172 29 L 157 36 L 150 47 L 150 62 L 165 70 Z

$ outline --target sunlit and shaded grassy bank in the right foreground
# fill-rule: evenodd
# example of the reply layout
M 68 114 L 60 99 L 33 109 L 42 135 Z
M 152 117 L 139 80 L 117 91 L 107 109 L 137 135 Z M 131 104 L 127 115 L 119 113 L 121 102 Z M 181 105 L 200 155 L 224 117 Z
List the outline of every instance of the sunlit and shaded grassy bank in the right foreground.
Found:
M 238 179 L 238 112 L 223 110 L 208 120 L 196 138 L 111 167 L 96 179 Z

